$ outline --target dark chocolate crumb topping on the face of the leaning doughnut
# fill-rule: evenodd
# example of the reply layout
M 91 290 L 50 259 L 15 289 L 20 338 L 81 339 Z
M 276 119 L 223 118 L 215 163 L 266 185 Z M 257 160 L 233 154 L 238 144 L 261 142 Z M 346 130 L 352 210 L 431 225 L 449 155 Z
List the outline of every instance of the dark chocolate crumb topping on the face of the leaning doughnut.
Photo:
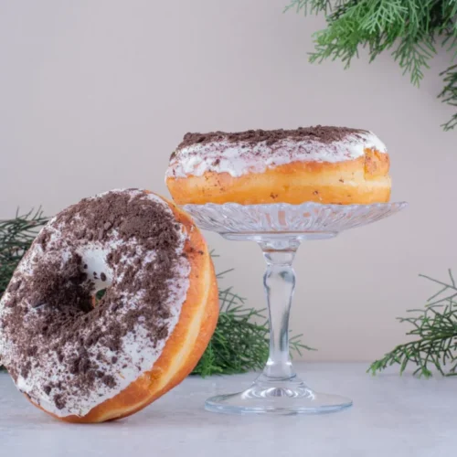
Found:
M 15 380 L 27 381 L 34 370 L 55 374 L 58 364 L 61 379 L 49 371 L 42 388 L 57 409 L 97 385 L 115 388 L 110 367 L 125 364 L 124 338 L 136 344 L 141 331 L 153 350 L 169 334 L 179 230 L 164 203 L 134 190 L 85 198 L 59 213 L 5 292 L 0 335 L 14 352 L 4 362 Z M 88 243 L 105 257 L 104 271 L 88 271 Z M 96 289 L 104 288 L 96 301 Z

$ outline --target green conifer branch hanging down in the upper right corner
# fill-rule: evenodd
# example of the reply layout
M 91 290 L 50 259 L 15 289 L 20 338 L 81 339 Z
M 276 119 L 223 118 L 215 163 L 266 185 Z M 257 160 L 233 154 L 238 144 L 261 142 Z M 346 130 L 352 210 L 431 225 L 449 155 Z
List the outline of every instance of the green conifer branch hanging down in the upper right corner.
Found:
M 311 62 L 339 59 L 348 68 L 358 58 L 359 48 L 367 48 L 370 62 L 384 51 L 409 74 L 419 86 L 437 44 L 457 54 L 457 0 L 292 0 L 285 10 L 303 12 L 305 16 L 324 14 L 326 27 L 314 34 Z M 441 73 L 445 87 L 439 94 L 442 102 L 457 106 L 457 69 L 451 66 Z M 443 124 L 451 130 L 457 114 Z

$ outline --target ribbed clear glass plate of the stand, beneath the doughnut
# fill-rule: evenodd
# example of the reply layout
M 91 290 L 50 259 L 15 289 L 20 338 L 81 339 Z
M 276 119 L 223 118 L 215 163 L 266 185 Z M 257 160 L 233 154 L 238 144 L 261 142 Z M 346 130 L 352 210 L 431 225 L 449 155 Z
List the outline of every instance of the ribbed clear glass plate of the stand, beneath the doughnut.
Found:
M 305 202 L 300 205 L 271 203 L 187 204 L 183 209 L 197 226 L 220 234 L 228 233 L 327 233 L 333 234 L 367 225 L 398 213 L 406 202 L 369 205 L 324 205 Z

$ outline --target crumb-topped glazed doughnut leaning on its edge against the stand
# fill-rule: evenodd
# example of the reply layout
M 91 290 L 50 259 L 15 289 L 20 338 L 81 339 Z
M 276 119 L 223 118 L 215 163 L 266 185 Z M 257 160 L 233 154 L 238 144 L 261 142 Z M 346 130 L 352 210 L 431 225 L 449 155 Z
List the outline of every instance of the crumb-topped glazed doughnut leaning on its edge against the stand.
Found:
M 55 418 L 114 420 L 181 382 L 217 320 L 213 264 L 189 216 L 113 190 L 64 209 L 27 250 L 0 301 L 0 360 Z

